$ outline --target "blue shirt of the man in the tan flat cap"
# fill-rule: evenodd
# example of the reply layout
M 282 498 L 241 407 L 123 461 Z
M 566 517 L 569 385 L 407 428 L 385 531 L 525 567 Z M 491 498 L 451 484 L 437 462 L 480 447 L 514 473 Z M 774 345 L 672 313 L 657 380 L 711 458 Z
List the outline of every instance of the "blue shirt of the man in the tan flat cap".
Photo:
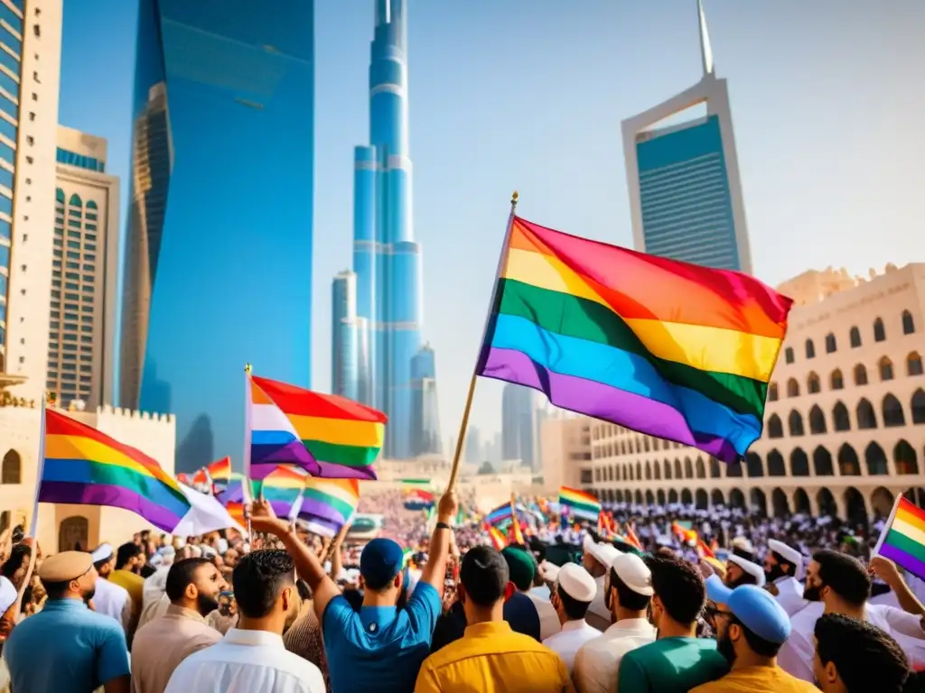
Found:
M 129 675 L 122 626 L 77 599 L 45 602 L 42 611 L 13 628 L 3 658 L 10 688 L 30 693 L 93 693 Z

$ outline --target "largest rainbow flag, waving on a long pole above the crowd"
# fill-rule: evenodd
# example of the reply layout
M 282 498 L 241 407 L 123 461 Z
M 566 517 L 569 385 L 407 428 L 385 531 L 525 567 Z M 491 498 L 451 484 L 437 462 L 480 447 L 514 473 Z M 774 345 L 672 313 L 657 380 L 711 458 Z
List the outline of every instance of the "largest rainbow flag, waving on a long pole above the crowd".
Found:
M 512 219 L 478 375 L 734 462 L 761 435 L 792 301 Z

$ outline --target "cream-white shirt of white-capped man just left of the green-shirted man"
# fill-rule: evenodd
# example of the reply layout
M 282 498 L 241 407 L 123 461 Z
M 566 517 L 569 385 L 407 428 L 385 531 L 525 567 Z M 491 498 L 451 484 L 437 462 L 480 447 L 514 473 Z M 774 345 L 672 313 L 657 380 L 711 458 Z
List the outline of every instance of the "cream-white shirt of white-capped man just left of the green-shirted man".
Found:
M 623 655 L 655 642 L 655 628 L 645 618 L 617 621 L 575 655 L 572 676 L 578 693 L 613 693 Z M 628 691 L 627 693 L 633 693 Z

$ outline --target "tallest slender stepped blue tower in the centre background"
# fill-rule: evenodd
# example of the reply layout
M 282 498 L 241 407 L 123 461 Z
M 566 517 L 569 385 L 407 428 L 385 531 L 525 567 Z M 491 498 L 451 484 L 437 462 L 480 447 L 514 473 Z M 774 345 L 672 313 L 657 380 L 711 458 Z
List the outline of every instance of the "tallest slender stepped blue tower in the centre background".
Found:
M 363 401 L 388 414 L 384 454 L 397 459 L 439 447 L 422 442 L 439 428 L 435 376 L 432 369 L 414 372 L 415 360 L 426 358 L 420 354 L 421 251 L 412 227 L 407 18 L 406 0 L 376 0 L 369 145 L 353 155 L 353 270 L 357 314 L 368 323 L 370 346 L 368 366 L 360 367 Z M 429 355 L 432 365 L 432 350 Z

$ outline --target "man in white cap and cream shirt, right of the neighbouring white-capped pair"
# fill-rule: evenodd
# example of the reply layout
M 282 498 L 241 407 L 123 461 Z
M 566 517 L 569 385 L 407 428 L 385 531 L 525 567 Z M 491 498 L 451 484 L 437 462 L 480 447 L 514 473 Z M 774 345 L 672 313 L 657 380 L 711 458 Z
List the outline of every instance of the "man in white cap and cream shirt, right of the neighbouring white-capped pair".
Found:
M 616 690 L 623 655 L 655 641 L 655 628 L 647 616 L 651 579 L 648 565 L 639 556 L 621 553 L 614 559 L 604 587 L 613 625 L 578 650 L 573 674 L 578 693 Z

